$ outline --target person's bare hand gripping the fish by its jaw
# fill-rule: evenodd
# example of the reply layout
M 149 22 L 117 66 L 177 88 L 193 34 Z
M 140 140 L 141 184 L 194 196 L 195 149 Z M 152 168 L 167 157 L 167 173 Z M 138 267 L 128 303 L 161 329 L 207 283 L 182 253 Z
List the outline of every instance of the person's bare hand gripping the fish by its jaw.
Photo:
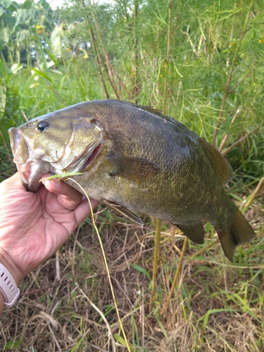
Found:
M 91 213 L 87 200 L 68 184 L 43 183 L 35 193 L 26 191 L 17 172 L 0 184 L 0 263 L 17 284 Z M 93 208 L 99 204 L 91 201 Z

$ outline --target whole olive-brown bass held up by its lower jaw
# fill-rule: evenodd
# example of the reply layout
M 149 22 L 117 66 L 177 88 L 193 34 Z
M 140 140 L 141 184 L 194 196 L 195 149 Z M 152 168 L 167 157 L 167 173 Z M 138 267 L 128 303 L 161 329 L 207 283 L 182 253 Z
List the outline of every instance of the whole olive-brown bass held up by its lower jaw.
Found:
M 232 168 L 210 143 L 177 120 L 127 101 L 86 101 L 9 130 L 13 161 L 29 191 L 47 172 L 80 172 L 88 196 L 143 225 L 144 213 L 203 244 L 215 228 L 229 260 L 255 233 L 225 191 Z M 84 193 L 72 180 L 65 180 Z

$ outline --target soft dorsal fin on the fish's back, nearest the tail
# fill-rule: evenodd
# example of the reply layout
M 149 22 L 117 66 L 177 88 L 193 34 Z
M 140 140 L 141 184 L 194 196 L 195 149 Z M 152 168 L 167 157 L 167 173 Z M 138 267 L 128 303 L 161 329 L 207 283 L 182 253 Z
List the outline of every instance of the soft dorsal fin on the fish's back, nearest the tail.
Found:
M 206 142 L 205 139 L 200 138 L 199 142 L 201 143 L 201 146 L 203 146 L 203 148 L 206 150 L 218 180 L 220 180 L 220 182 L 225 185 L 227 181 L 229 181 L 233 176 L 230 163 L 228 163 L 227 159 L 222 156 L 218 149 L 215 149 L 215 147 L 212 146 L 212 144 Z

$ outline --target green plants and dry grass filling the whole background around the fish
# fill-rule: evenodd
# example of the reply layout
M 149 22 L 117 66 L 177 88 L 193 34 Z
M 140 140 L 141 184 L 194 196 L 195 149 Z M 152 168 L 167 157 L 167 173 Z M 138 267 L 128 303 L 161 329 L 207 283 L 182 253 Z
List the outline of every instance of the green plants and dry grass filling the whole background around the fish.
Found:
M 149 312 L 153 222 L 145 216 L 142 230 L 110 210 L 96 215 L 132 351 L 264 351 L 263 23 L 261 1 L 70 0 L 53 11 L 45 0 L 0 0 L 0 181 L 15 172 L 9 127 L 80 101 L 125 99 L 215 144 L 234 169 L 228 191 L 240 208 L 248 201 L 256 240 L 231 264 L 206 225 L 204 246 L 189 241 L 165 315 L 181 234 L 162 224 Z M 127 351 L 90 220 L 21 289 L 2 318 L 4 351 Z

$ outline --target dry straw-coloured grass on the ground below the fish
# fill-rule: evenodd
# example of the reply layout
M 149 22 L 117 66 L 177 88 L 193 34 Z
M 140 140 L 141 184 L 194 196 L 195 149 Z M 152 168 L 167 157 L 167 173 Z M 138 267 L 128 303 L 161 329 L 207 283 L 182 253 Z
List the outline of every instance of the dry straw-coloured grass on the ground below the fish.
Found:
M 259 235 L 262 204 L 263 189 L 246 214 Z M 97 218 L 131 350 L 264 351 L 264 240 L 258 236 L 237 249 L 234 264 L 223 257 L 219 243 L 196 256 L 202 246 L 189 242 L 178 289 L 159 316 L 184 237 L 163 225 L 156 308 L 149 312 L 153 226 L 149 218 L 144 221 L 144 228 L 125 223 L 110 210 Z M 209 230 L 205 245 L 215 240 Z M 2 315 L 0 351 L 127 351 L 88 220 L 56 256 L 25 278 L 21 291 L 18 304 Z

